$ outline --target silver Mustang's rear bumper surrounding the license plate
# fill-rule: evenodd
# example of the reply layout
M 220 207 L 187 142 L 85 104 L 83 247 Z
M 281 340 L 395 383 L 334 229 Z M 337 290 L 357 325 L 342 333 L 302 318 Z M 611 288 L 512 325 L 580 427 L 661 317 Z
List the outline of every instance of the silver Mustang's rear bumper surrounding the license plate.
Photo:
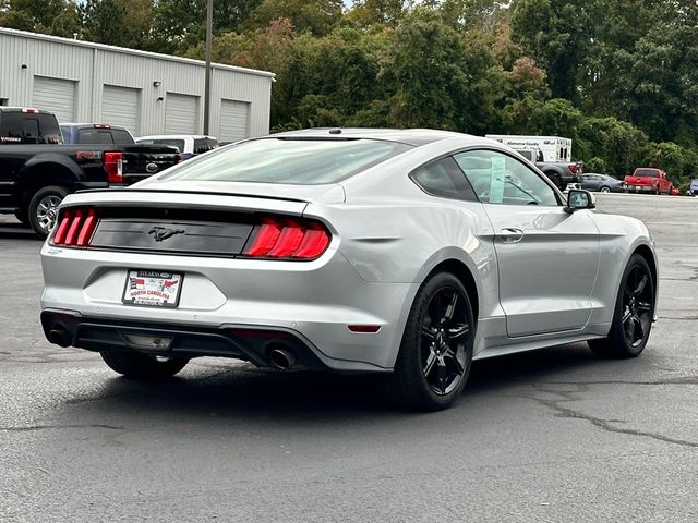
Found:
M 268 364 L 269 343 L 282 340 L 260 344 L 230 329 L 290 335 L 296 350 L 309 354 L 297 358 L 306 360 L 311 368 L 390 369 L 419 287 L 368 282 L 333 250 L 300 263 L 57 248 L 47 243 L 41 259 L 47 336 L 57 318 L 63 318 L 72 346 L 139 350 L 123 336 L 130 329 L 146 336 L 171 331 L 177 333 L 171 349 L 189 357 L 240 357 L 261 366 Z M 127 271 L 136 268 L 183 273 L 179 306 L 123 304 Z M 353 332 L 350 325 L 380 329 Z

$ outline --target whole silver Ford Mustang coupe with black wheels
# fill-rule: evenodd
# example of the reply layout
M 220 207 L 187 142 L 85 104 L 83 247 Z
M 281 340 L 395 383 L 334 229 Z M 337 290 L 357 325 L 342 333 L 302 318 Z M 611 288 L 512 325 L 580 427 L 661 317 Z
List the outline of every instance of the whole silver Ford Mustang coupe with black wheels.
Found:
M 195 356 L 388 373 L 409 405 L 473 360 L 587 340 L 637 356 L 657 258 L 638 220 L 567 198 L 520 155 L 430 130 L 310 130 L 68 196 L 41 324 L 135 378 Z

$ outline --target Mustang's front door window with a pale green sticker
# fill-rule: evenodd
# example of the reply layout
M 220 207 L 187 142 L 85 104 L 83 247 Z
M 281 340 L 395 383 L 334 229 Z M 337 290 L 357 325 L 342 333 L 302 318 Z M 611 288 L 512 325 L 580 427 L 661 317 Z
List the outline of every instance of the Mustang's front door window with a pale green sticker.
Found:
M 519 160 L 495 150 L 454 157 L 483 204 L 559 205 L 555 191 Z

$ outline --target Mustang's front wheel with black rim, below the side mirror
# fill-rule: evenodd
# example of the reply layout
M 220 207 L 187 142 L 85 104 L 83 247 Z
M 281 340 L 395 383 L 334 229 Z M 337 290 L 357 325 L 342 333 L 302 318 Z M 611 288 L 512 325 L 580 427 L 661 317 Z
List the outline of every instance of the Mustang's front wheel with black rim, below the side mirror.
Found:
M 623 271 L 609 337 L 590 340 L 597 356 L 639 356 L 650 337 L 654 318 L 654 281 L 647 260 L 634 254 Z

